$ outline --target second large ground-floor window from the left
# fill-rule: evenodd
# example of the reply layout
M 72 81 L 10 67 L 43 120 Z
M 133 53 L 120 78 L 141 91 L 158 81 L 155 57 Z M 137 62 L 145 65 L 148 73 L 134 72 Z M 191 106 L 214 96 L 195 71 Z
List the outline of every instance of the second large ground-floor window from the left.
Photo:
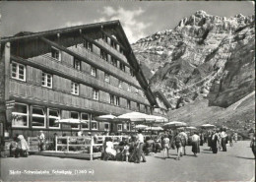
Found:
M 45 128 L 45 112 L 43 107 L 32 106 L 32 127 Z

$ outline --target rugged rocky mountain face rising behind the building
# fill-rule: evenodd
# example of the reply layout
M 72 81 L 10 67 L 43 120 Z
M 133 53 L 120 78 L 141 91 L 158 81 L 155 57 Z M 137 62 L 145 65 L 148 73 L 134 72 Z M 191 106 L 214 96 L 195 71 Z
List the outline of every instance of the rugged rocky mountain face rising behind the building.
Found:
M 176 109 L 198 99 L 227 107 L 254 91 L 254 16 L 231 18 L 198 11 L 134 43 L 136 57 L 150 68 L 153 90 Z

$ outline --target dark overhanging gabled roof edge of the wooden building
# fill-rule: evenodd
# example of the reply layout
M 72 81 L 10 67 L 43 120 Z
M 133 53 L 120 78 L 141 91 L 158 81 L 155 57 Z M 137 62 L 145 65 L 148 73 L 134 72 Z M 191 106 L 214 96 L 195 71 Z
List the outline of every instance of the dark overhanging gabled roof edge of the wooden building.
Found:
M 5 42 L 36 39 L 41 36 L 49 37 L 49 36 L 57 34 L 57 33 L 72 33 L 74 31 L 78 31 L 78 30 L 96 30 L 96 29 L 102 30 L 103 28 L 115 30 L 115 32 L 117 33 L 116 36 L 118 37 L 118 40 L 126 49 L 124 51 L 125 51 L 125 55 L 127 56 L 127 61 L 136 72 L 136 74 L 135 74 L 136 79 L 138 80 L 142 89 L 144 91 L 146 91 L 146 96 L 147 96 L 148 100 L 150 101 L 151 105 L 158 107 L 159 104 L 156 100 L 155 94 L 151 91 L 151 89 L 149 87 L 149 83 L 141 70 L 141 67 L 140 67 L 140 65 L 133 53 L 131 45 L 128 41 L 128 38 L 126 37 L 126 34 L 125 34 L 124 30 L 122 29 L 122 26 L 119 21 L 110 21 L 110 22 L 89 24 L 89 25 L 63 28 L 63 29 L 57 29 L 57 30 L 45 30 L 45 31 L 39 31 L 39 32 L 21 31 L 14 36 L 2 37 L 0 42 L 2 44 Z

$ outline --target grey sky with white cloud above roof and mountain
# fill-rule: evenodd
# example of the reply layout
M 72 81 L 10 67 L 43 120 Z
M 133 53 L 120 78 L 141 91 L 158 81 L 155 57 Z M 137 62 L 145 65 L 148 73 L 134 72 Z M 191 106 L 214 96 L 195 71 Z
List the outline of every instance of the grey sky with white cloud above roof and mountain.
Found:
M 24 1 L 0 2 L 0 33 L 54 30 L 119 20 L 130 43 L 160 30 L 174 29 L 198 10 L 232 17 L 253 15 L 252 1 Z

